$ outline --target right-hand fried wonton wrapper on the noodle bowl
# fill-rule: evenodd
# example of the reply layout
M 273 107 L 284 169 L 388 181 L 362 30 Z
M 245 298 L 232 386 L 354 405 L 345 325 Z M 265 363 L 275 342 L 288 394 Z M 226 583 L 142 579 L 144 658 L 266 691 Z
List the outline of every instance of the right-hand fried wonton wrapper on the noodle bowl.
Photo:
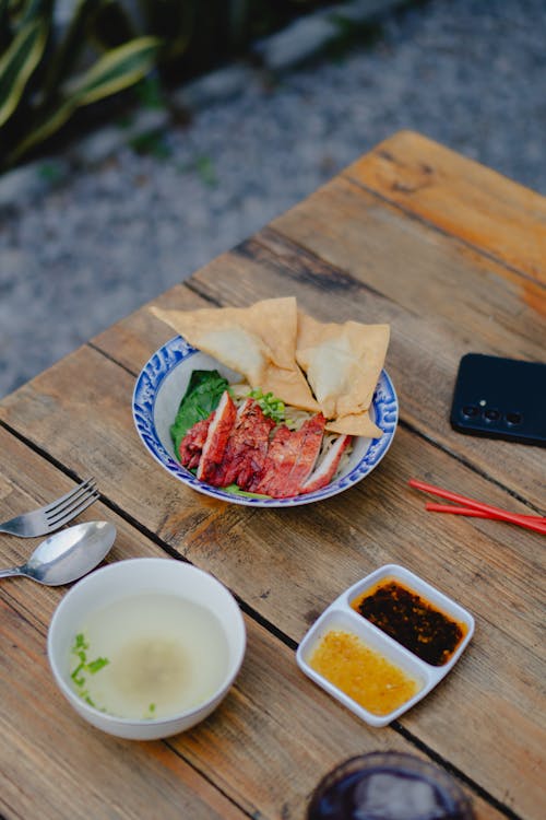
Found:
M 343 417 L 361 417 L 368 410 L 389 336 L 389 325 L 324 325 L 298 314 L 296 360 L 327 419 L 340 422 Z M 361 434 L 355 431 L 354 435 Z

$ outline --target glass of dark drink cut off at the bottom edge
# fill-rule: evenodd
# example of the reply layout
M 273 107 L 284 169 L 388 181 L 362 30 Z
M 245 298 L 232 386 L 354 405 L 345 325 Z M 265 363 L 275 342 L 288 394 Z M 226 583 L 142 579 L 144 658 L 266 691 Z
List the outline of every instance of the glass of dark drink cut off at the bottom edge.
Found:
M 307 820 L 474 820 L 474 812 L 442 769 L 387 751 L 351 758 L 327 774 Z

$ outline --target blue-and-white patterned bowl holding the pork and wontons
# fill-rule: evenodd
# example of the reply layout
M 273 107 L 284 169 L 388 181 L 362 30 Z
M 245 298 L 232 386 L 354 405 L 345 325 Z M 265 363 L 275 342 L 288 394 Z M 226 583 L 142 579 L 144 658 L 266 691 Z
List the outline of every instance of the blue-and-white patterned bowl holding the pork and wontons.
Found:
M 211 487 L 199 481 L 177 461 L 169 433 L 191 372 L 194 370 L 217 370 L 229 382 L 240 380 L 240 376 L 234 371 L 206 353 L 195 350 L 180 336 L 176 336 L 153 354 L 136 379 L 133 419 L 144 446 L 162 467 L 179 481 L 205 495 L 253 507 L 310 504 L 313 501 L 329 499 L 356 484 L 377 467 L 391 446 L 397 424 L 399 402 L 391 379 L 387 372 L 382 371 L 373 395 L 370 417 L 383 431 L 383 435 L 381 438 L 355 437 L 346 468 L 322 490 L 290 499 L 252 499 Z

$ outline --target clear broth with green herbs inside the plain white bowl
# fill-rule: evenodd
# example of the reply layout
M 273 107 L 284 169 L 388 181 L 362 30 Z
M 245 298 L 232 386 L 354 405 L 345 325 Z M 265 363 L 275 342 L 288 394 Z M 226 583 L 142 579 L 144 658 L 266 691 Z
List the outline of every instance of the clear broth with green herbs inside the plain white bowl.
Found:
M 154 593 L 95 610 L 70 653 L 74 691 L 95 708 L 133 719 L 202 705 L 221 687 L 227 666 L 219 620 L 199 604 Z

